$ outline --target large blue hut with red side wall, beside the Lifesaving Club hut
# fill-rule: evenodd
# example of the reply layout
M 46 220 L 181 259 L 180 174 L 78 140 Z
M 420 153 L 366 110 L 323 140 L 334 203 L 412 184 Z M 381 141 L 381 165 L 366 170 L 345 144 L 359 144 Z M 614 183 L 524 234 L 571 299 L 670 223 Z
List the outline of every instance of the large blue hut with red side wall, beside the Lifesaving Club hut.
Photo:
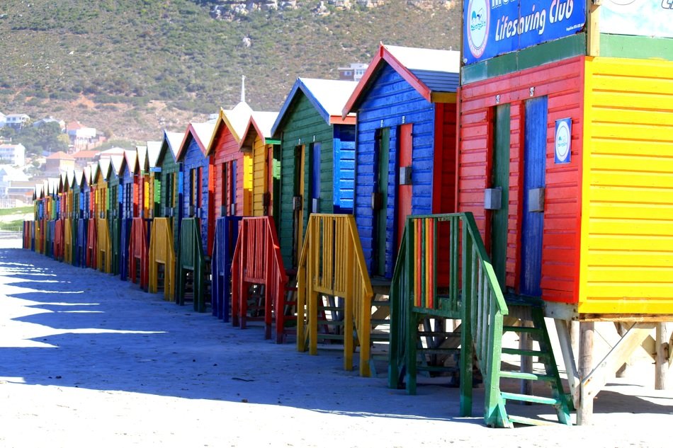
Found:
M 409 214 L 455 211 L 460 52 L 380 44 L 357 113 L 355 210 L 370 274 L 390 278 Z

